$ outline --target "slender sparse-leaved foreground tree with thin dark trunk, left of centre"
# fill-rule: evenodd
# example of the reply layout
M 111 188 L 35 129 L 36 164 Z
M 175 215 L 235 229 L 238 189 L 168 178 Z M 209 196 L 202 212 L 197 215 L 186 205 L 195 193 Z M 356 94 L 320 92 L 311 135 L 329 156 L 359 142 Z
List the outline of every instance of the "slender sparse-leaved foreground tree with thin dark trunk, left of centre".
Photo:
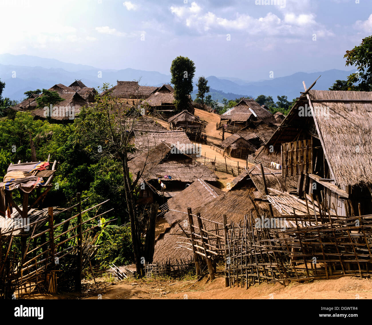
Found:
M 146 226 L 143 227 L 145 211 L 137 205 L 138 193 L 145 183 L 146 166 L 158 164 L 163 158 L 151 160 L 149 155 L 153 149 L 148 148 L 144 167 L 137 174 L 132 174 L 128 168 L 128 154 L 135 151 L 132 144 L 132 134 L 141 118 L 141 107 L 135 104 L 132 107 L 125 106 L 119 99 L 111 96 L 108 84 L 104 84 L 103 96 L 97 94 L 93 107 L 84 108 L 76 123 L 77 137 L 82 139 L 86 151 L 94 155 L 105 155 L 107 158 L 118 160 L 122 167 L 124 179 L 125 202 L 122 210 L 126 210 L 131 223 L 132 247 L 134 252 L 137 274 L 144 275 L 144 261 L 152 262 L 154 253 L 155 218 L 158 205 L 151 206 Z M 140 91 L 137 88 L 137 101 L 141 101 Z M 98 148 L 98 150 L 97 150 Z M 145 238 L 141 234 L 146 233 Z

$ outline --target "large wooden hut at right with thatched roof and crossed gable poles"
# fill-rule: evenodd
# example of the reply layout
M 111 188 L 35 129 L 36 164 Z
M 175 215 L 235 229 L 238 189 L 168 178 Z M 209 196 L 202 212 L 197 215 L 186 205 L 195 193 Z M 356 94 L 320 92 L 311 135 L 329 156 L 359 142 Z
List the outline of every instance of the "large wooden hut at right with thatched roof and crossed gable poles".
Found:
M 276 154 L 282 152 L 285 176 L 296 171 L 295 166 L 302 161 L 308 161 L 310 183 L 318 185 L 316 194 L 320 196 L 318 191 L 324 189 L 328 206 L 338 215 L 346 215 L 346 199 L 352 201 L 355 211 L 360 202 L 365 213 L 372 212 L 371 133 L 372 92 L 309 90 L 299 97 L 257 155 L 261 158 L 270 146 Z M 298 146 L 301 141 L 310 154 Z M 291 151 L 283 151 L 285 144 Z M 288 160 L 291 152 L 296 154 L 296 165 Z M 307 190 L 311 193 L 310 188 Z

